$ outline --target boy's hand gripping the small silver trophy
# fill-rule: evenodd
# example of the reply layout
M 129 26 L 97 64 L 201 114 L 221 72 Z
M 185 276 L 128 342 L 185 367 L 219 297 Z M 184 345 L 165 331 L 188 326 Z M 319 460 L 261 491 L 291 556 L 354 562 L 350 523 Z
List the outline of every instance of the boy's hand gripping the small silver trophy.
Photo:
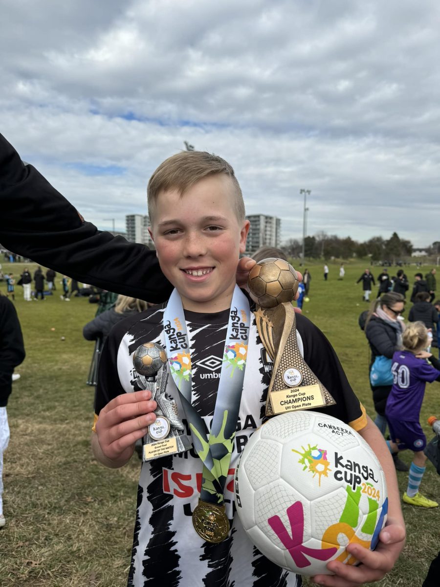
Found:
M 136 440 L 156 419 L 156 407 L 150 391 L 123 393 L 103 407 L 95 426 L 103 456 L 116 466 L 127 463 Z

